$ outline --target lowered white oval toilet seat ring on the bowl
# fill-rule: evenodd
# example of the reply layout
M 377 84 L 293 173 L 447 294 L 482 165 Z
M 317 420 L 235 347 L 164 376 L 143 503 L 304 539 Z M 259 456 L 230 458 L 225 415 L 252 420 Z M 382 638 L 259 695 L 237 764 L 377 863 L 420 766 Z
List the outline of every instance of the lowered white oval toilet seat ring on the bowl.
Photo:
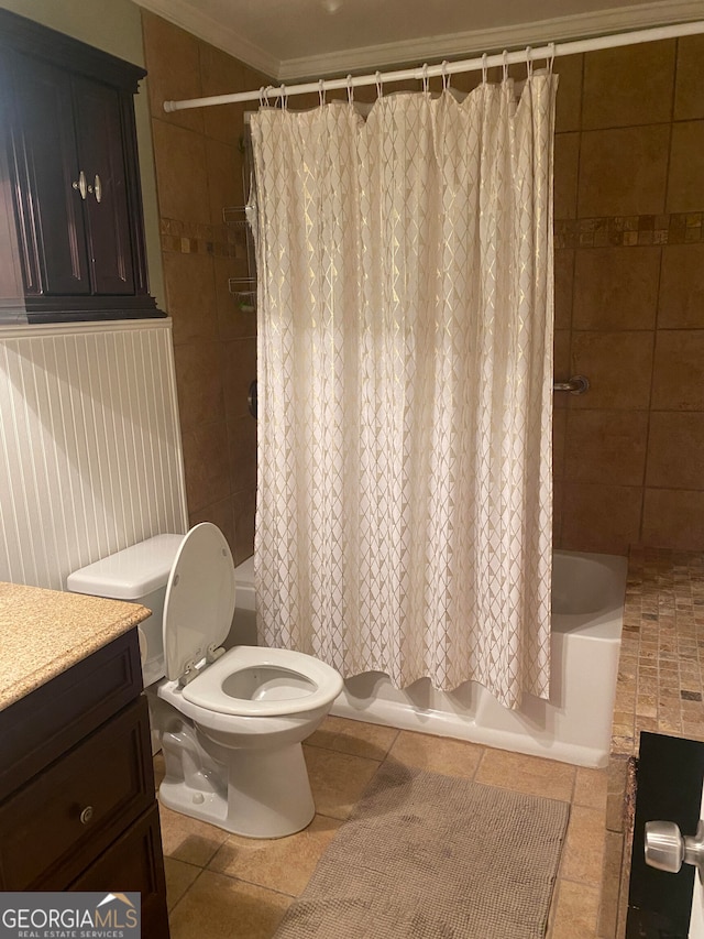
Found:
M 339 673 L 310 655 L 240 645 L 208 665 L 182 694 L 185 701 L 220 714 L 278 717 L 310 711 L 341 690 Z M 239 697 L 242 691 L 257 697 Z

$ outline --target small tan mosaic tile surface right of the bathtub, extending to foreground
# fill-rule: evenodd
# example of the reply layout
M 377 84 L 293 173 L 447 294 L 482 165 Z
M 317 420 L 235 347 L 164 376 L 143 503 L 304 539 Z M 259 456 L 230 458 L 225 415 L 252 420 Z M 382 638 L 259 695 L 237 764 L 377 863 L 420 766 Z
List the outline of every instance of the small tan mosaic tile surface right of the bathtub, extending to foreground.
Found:
M 631 547 L 612 731 L 600 937 L 626 926 L 641 731 L 704 741 L 704 554 Z

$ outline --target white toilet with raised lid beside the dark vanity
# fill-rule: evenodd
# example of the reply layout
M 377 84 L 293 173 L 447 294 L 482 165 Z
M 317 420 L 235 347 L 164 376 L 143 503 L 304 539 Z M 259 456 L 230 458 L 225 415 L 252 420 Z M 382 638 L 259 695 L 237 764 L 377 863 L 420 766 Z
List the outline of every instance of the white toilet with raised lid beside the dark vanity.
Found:
M 301 742 L 342 677 L 289 649 L 222 643 L 235 572 L 222 532 L 156 535 L 70 574 L 67 589 L 152 610 L 140 626 L 153 735 L 164 752 L 160 800 L 248 838 L 300 831 L 315 805 Z

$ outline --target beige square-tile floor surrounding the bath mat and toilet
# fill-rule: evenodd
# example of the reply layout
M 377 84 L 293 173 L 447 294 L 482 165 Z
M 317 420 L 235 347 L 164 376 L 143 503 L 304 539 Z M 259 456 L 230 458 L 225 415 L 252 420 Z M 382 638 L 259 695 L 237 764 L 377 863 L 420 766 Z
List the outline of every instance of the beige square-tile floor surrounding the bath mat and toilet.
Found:
M 162 807 L 172 939 L 273 936 L 387 756 L 435 773 L 570 801 L 548 939 L 596 939 L 605 771 L 333 717 L 326 719 L 304 750 L 318 814 L 305 831 L 290 838 L 240 838 Z M 158 783 L 160 756 L 155 769 Z

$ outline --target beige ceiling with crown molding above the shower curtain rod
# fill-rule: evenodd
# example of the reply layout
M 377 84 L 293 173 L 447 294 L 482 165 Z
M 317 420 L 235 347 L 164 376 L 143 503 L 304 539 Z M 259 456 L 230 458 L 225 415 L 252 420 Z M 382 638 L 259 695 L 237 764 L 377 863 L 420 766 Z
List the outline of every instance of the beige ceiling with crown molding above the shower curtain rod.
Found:
M 277 80 L 702 19 L 702 0 L 135 0 Z

